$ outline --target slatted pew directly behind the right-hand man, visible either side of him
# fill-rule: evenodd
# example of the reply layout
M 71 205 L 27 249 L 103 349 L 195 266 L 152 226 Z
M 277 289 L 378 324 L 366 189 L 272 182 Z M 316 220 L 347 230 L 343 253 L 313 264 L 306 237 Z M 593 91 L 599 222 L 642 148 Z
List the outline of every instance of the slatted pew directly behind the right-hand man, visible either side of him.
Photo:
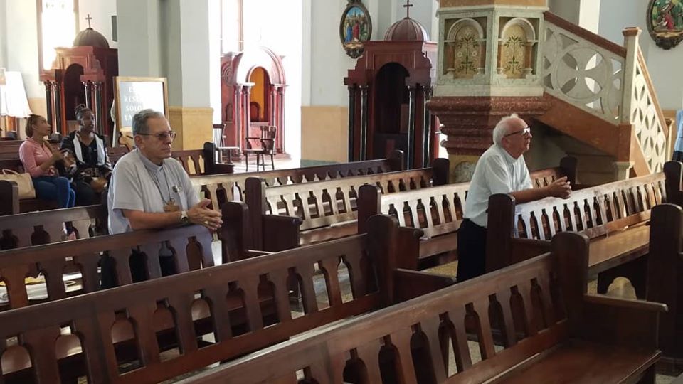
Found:
M 548 186 L 566 177 L 576 186 L 576 158 L 565 157 L 560 166 L 531 171 L 534 188 Z M 443 264 L 457 258 L 457 229 L 462 223 L 465 196 L 470 183 L 448 184 L 418 191 L 383 195 L 374 186 L 361 186 L 358 198 L 359 233 L 366 231 L 365 223 L 371 215 L 393 215 L 403 226 L 420 228 L 420 257 L 401 260 L 401 267 L 418 270 Z M 429 209 L 425 210 L 425 204 Z

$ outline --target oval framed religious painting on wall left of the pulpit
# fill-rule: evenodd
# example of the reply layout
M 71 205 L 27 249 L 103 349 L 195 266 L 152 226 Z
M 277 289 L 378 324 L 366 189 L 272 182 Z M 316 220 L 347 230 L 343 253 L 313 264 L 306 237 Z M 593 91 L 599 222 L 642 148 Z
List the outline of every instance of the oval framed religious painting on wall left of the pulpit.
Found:
M 346 9 L 339 22 L 339 38 L 346 55 L 359 58 L 363 54 L 366 41 L 372 36 L 372 20 L 361 0 L 348 0 Z

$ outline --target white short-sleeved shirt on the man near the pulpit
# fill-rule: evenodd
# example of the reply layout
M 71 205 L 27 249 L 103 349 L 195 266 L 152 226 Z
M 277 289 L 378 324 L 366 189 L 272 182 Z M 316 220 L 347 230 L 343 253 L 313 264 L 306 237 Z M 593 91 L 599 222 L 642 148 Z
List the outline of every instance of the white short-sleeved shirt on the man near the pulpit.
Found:
M 487 227 L 489 197 L 494 193 L 510 193 L 532 187 L 524 156 L 510 156 L 499 145 L 492 145 L 477 161 L 470 181 L 464 217 L 480 227 Z

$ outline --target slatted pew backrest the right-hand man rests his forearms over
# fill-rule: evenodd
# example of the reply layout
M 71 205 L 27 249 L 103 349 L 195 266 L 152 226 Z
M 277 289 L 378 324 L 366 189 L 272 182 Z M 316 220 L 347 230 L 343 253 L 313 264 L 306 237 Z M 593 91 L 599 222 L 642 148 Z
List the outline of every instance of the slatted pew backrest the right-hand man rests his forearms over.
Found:
M 663 173 L 573 191 L 568 199 L 545 198 L 518 204 L 520 238 L 550 240 L 556 233 L 581 231 L 589 238 L 650 218 L 650 210 L 666 202 Z

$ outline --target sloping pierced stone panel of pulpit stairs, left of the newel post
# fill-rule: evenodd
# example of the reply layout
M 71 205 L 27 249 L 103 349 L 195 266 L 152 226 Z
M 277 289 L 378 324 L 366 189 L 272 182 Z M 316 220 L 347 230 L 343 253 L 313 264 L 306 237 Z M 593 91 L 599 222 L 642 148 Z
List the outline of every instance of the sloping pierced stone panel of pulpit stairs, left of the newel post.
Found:
M 625 59 L 551 23 L 544 29 L 546 92 L 612 124 L 620 121 Z

